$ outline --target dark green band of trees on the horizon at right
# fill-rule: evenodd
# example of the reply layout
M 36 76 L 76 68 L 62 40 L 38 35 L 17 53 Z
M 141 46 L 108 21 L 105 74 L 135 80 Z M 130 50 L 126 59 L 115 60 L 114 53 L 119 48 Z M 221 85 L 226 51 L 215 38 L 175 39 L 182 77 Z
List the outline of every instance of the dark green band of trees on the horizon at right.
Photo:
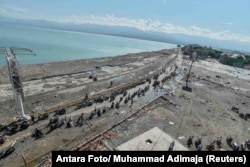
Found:
M 250 65 L 250 55 L 239 54 L 243 56 L 231 57 L 228 54 L 224 54 L 220 50 L 216 50 L 211 47 L 202 47 L 197 44 L 186 45 L 182 47 L 181 50 L 184 55 L 192 55 L 193 52 L 196 52 L 198 55 L 198 59 L 213 58 L 213 59 L 220 61 L 222 64 L 226 64 L 226 65 L 230 65 L 234 67 L 242 68 L 244 66 Z

